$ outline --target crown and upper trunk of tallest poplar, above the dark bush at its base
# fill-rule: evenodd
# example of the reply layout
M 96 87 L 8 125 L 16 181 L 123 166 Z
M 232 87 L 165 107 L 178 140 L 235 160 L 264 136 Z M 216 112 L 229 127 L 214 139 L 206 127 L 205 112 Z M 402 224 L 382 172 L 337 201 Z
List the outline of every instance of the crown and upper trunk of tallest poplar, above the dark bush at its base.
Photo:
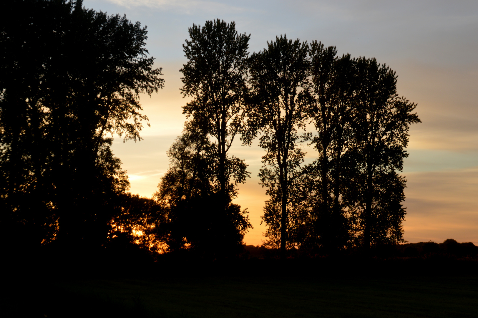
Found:
M 226 207 L 236 191 L 228 178 L 228 152 L 234 138 L 243 129 L 246 114 L 244 98 L 248 90 L 250 35 L 239 34 L 234 22 L 219 19 L 206 21 L 203 27 L 193 24 L 188 30 L 191 40 L 183 44 L 188 62 L 180 69 L 184 75 L 181 91 L 193 100 L 183 109 L 217 140 L 217 192 Z M 242 167 L 243 164 L 239 164 L 236 169 Z

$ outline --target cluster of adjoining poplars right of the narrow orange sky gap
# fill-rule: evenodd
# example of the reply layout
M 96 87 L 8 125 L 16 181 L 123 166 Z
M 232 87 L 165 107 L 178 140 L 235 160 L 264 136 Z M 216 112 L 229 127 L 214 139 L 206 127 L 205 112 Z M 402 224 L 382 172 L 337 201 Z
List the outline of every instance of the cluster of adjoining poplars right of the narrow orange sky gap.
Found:
M 259 174 L 271 197 L 266 244 L 333 253 L 402 242 L 406 181 L 398 172 L 409 126 L 420 120 L 396 94 L 395 73 L 376 59 L 282 36 L 251 56 L 250 72 L 250 135 L 260 131 L 267 150 Z M 297 133 L 306 118 L 314 136 Z M 319 153 L 304 167 L 301 137 Z

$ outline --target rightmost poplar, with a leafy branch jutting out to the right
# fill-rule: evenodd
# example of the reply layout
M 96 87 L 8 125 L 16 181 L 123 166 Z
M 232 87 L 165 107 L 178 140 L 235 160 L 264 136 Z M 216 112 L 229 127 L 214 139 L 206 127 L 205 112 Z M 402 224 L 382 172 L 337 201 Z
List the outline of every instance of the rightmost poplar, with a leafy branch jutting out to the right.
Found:
M 356 60 L 357 87 L 354 109 L 355 162 L 344 199 L 348 203 L 358 246 L 369 249 L 403 241 L 405 218 L 403 158 L 408 156 L 410 124 L 421 122 L 412 111 L 416 104 L 396 93 L 397 76 L 375 58 Z

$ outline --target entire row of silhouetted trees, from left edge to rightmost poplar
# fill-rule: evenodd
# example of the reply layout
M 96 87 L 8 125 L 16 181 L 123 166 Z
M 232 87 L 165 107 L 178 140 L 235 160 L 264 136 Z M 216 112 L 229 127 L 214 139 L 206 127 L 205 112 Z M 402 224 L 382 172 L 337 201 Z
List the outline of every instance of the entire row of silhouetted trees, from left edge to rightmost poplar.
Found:
M 264 149 L 265 246 L 311 254 L 403 242 L 409 126 L 416 105 L 375 58 L 276 37 L 249 54 L 235 23 L 189 28 L 184 132 L 152 199 L 128 193 L 112 133 L 141 140 L 139 94 L 163 87 L 146 28 L 65 0 L 14 0 L 1 22 L 2 228 L 19 246 L 206 257 L 242 250 L 251 224 L 232 199 L 249 177 L 232 143 Z M 303 146 L 318 152 L 304 164 Z

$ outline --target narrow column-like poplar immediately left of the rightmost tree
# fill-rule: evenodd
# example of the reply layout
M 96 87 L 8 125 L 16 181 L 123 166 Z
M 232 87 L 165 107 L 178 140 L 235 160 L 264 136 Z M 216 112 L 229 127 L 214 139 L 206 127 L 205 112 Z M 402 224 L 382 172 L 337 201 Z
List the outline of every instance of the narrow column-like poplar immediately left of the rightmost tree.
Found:
M 309 204 L 312 206 L 314 243 L 326 252 L 343 248 L 348 242 L 348 219 L 341 200 L 347 185 L 347 153 L 353 141 L 352 110 L 355 97 L 355 62 L 350 55 L 337 57 L 335 46 L 311 43 L 311 85 L 314 97 L 309 116 L 317 135 L 312 143 L 319 152 L 318 159 L 307 167 L 312 178 Z

